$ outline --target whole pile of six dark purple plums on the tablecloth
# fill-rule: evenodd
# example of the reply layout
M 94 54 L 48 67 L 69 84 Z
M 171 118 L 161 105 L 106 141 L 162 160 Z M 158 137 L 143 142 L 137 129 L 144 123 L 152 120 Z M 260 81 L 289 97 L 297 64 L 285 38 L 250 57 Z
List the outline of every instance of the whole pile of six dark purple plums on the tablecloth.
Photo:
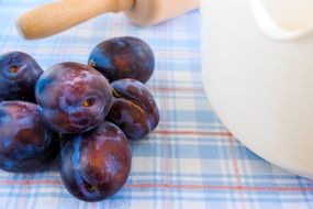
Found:
M 99 201 L 125 184 L 128 140 L 158 124 L 145 86 L 154 72 L 150 47 L 135 37 L 100 43 L 88 64 L 45 72 L 22 52 L 0 56 L 0 168 L 43 170 L 59 155 L 60 176 L 78 199 Z

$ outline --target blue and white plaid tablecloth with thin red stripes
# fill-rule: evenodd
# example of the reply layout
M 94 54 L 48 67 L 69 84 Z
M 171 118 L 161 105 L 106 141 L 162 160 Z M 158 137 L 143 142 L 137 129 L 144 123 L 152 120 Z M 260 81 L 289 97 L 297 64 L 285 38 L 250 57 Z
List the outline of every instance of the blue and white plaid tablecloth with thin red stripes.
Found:
M 23 51 L 47 68 L 65 61 L 86 63 L 91 48 L 110 37 L 143 38 L 156 55 L 147 85 L 161 119 L 146 140 L 132 143 L 131 176 L 111 199 L 72 198 L 57 168 L 0 172 L 0 209 L 313 208 L 312 182 L 253 154 L 214 114 L 201 84 L 199 11 L 148 29 L 130 24 L 123 14 L 107 14 L 49 38 L 22 40 L 14 20 L 44 2 L 0 0 L 0 53 Z

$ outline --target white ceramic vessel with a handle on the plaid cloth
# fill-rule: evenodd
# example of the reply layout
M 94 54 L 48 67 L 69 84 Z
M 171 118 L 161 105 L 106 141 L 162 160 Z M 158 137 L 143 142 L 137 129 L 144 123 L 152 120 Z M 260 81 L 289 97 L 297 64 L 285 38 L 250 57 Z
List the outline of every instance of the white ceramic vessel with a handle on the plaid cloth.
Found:
M 203 84 L 227 129 L 313 178 L 313 0 L 202 0 Z

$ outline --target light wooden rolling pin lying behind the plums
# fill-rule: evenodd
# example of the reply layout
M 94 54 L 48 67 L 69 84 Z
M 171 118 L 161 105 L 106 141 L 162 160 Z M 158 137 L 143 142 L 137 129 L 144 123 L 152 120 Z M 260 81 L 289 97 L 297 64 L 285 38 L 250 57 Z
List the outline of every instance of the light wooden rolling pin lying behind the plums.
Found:
M 157 24 L 199 8 L 199 0 L 62 0 L 31 10 L 16 22 L 20 34 L 35 40 L 57 34 L 105 12 L 124 11 L 134 24 Z

